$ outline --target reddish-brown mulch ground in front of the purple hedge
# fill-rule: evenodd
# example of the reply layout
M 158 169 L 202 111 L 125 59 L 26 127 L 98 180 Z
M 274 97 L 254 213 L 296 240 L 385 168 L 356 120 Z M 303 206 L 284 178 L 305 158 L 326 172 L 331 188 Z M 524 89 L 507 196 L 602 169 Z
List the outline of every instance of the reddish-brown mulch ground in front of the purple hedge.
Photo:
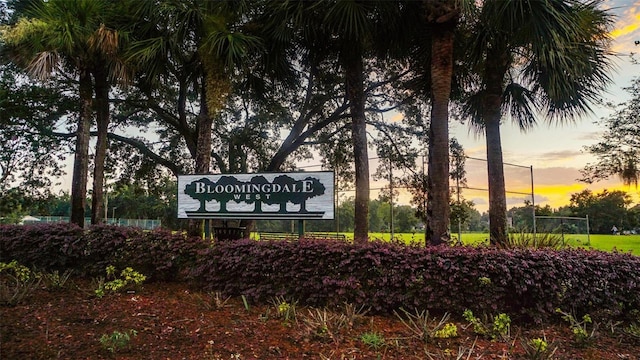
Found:
M 0 359 L 527 359 L 522 342 L 538 337 L 557 346 L 554 359 L 640 359 L 640 340 L 621 327 L 612 334 L 601 326 L 591 344 L 578 346 L 566 324 L 514 324 L 504 342 L 477 337 L 458 322 L 458 337 L 425 346 L 393 315 L 355 316 L 322 333 L 308 325 L 310 312 L 317 310 L 297 306 L 296 319 L 286 322 L 272 304 L 247 310 L 234 298 L 217 307 L 211 294 L 174 283 L 98 299 L 90 283 L 76 280 L 0 307 Z M 128 330 L 137 336 L 127 349 L 111 353 L 99 341 Z M 365 344 L 366 333 L 384 345 Z

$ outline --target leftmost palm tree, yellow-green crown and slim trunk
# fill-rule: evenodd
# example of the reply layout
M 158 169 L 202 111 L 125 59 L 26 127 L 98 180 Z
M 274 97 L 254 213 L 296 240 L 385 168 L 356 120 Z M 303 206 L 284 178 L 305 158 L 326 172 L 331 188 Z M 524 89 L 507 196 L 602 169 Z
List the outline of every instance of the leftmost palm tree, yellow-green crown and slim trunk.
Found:
M 3 33 L 14 61 L 25 66 L 29 73 L 38 78 L 47 78 L 61 72 L 77 75 L 80 97 L 78 125 L 76 129 L 76 149 L 74 153 L 73 179 L 71 186 L 70 222 L 84 226 L 86 203 L 89 138 L 93 114 L 92 74 L 105 71 L 105 54 L 112 54 L 114 39 L 111 30 L 104 24 L 109 12 L 108 1 L 92 0 L 51 0 L 36 2 L 27 10 L 26 17 Z M 108 91 L 101 92 L 102 99 Z M 102 204 L 102 176 L 104 152 L 106 151 L 107 114 L 101 115 L 100 130 L 104 130 L 99 141 L 94 183 L 94 215 L 100 214 Z M 95 179 L 94 179 L 95 180 Z

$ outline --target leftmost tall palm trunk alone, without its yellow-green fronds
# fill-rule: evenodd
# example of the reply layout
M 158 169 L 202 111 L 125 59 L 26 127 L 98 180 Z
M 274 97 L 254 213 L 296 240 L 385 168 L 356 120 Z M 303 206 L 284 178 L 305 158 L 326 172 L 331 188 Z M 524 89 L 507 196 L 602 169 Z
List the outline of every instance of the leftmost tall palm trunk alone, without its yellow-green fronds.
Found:
M 79 83 L 81 109 L 78 117 L 78 129 L 76 130 L 76 149 L 73 160 L 70 222 L 80 227 L 84 227 L 84 208 L 87 202 L 89 136 L 91 129 L 92 111 L 91 74 L 87 69 L 80 70 Z

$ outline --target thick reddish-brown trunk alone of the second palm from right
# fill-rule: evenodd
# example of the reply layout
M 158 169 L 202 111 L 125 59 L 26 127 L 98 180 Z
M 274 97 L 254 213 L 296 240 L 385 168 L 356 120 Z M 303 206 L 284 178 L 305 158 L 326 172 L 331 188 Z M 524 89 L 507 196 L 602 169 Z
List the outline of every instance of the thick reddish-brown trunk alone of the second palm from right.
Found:
M 430 245 L 449 240 L 449 97 L 453 41 L 453 26 L 449 24 L 433 33 L 426 224 L 426 242 Z

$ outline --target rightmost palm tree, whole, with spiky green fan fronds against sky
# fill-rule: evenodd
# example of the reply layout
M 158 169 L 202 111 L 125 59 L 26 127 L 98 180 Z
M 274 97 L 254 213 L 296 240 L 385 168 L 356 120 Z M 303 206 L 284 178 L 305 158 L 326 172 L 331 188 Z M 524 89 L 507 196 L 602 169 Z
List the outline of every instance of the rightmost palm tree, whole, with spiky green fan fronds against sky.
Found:
M 611 17 L 600 0 L 488 0 L 472 32 L 469 67 L 479 91 L 467 111 L 487 144 L 492 244 L 507 240 L 500 124 L 510 114 L 522 131 L 536 123 L 573 121 L 590 111 L 610 81 L 607 30 Z

